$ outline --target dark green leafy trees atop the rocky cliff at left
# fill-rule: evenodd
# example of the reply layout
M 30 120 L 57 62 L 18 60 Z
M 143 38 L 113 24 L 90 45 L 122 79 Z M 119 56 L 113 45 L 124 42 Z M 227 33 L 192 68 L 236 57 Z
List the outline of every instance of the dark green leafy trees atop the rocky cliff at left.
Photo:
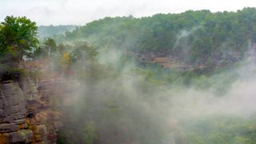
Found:
M 18 63 L 37 48 L 38 26 L 26 17 L 7 16 L 0 24 L 0 79 L 17 79 Z

